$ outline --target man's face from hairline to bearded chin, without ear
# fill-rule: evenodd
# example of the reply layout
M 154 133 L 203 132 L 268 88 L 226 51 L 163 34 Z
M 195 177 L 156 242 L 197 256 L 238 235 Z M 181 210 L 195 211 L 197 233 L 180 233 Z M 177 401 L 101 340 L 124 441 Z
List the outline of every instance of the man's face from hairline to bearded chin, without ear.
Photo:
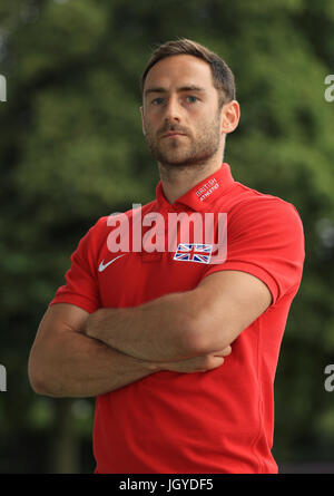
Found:
M 141 114 L 146 143 L 161 165 L 223 156 L 218 91 L 204 60 L 180 55 L 157 62 L 145 81 Z

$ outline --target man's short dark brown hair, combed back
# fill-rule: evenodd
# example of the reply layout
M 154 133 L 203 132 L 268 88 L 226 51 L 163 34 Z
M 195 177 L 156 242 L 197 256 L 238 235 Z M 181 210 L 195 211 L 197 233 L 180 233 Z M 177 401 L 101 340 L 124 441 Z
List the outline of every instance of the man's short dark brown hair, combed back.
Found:
M 227 64 L 216 54 L 204 47 L 203 45 L 191 41 L 187 38 L 180 38 L 174 41 L 167 41 L 160 45 L 153 52 L 150 59 L 140 78 L 141 96 L 144 93 L 145 80 L 148 71 L 159 61 L 166 57 L 176 55 L 191 55 L 202 60 L 205 60 L 212 69 L 214 87 L 219 94 L 219 107 L 225 103 L 235 99 L 235 80 L 234 75 Z

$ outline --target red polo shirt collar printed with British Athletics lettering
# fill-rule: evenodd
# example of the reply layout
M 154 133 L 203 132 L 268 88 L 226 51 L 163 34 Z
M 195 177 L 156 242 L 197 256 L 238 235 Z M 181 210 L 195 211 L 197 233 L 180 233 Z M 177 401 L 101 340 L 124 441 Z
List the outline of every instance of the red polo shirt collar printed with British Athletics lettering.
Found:
M 196 212 L 206 211 L 208 204 L 214 203 L 217 198 L 222 197 L 222 195 L 226 194 L 234 183 L 235 181 L 232 176 L 229 165 L 223 163 L 218 171 L 196 184 L 196 186 L 191 187 L 191 189 L 180 196 L 174 204 L 167 201 L 160 181 L 156 188 L 157 202 L 160 207 L 168 210 L 173 210 L 174 207 L 178 210 L 179 204 L 181 204 Z

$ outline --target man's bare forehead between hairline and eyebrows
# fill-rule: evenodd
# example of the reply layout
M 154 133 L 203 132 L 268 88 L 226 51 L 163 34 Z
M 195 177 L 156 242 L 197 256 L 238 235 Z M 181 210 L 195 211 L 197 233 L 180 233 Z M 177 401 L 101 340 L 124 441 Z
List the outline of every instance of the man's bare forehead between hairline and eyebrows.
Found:
M 196 85 L 214 90 L 210 66 L 197 57 L 177 55 L 159 60 L 147 74 L 144 90 L 150 87 L 164 87 L 167 90 L 176 86 Z

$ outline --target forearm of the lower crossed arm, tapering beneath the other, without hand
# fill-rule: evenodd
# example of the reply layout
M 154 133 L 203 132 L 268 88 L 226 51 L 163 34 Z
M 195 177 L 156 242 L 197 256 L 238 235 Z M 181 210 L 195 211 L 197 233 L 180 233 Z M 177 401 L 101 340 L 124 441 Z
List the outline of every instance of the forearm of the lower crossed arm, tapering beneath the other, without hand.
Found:
M 29 359 L 35 391 L 51 397 L 96 397 L 159 370 L 158 364 L 129 357 L 75 331 L 59 333 L 49 350 L 37 346 Z

